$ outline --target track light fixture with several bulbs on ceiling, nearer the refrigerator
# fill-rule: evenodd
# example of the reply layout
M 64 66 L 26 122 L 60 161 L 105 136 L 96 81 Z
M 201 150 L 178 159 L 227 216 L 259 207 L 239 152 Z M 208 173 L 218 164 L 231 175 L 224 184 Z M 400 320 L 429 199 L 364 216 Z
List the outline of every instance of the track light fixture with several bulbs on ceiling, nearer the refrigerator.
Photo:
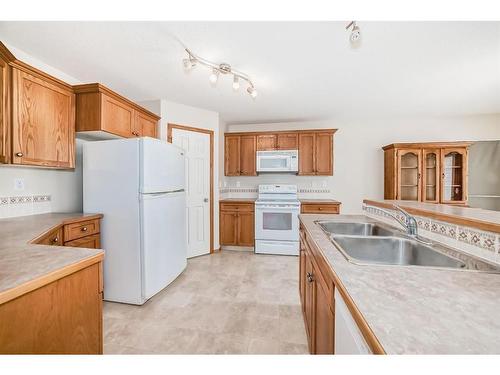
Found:
M 248 84 L 247 92 L 255 99 L 257 97 L 257 89 L 255 88 L 252 80 L 245 73 L 239 72 L 231 67 L 231 65 L 226 63 L 214 63 L 204 58 L 201 58 L 191 52 L 189 49 L 185 48 L 188 57 L 182 60 L 182 64 L 186 71 L 193 69 L 196 65 L 203 65 L 212 69 L 212 73 L 208 77 L 208 80 L 212 85 L 215 85 L 219 79 L 219 75 L 232 74 L 233 75 L 233 90 L 238 91 L 240 88 L 240 81 L 243 80 Z

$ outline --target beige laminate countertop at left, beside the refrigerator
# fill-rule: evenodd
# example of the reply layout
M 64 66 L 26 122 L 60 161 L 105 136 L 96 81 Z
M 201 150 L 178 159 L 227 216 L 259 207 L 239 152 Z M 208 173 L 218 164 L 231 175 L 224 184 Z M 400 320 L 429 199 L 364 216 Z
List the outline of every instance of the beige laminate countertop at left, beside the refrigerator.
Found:
M 29 292 L 30 285 L 43 285 L 42 278 L 53 281 L 61 269 L 97 262 L 104 252 L 63 246 L 31 244 L 30 241 L 51 228 L 79 218 L 102 215 L 42 214 L 0 220 L 0 304 L 12 296 Z M 76 271 L 77 269 L 75 269 Z M 56 277 L 57 279 L 57 277 Z M 41 285 L 40 285 L 41 283 Z M 13 290 L 16 290 L 14 293 Z

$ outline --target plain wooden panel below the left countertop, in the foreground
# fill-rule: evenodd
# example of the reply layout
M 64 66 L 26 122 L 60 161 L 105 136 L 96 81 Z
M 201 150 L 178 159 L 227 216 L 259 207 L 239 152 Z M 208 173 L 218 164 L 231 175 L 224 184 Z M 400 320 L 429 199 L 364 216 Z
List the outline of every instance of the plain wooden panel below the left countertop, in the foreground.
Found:
M 102 354 L 101 263 L 0 305 L 2 354 Z

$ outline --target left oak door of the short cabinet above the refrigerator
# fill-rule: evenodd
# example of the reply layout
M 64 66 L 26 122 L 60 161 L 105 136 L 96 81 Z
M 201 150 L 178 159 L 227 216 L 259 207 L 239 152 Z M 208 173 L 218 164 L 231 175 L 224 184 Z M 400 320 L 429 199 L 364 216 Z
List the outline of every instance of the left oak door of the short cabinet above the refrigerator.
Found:
M 101 127 L 107 132 L 130 138 L 136 137 L 134 109 L 128 104 L 101 94 Z M 134 133 L 133 133 L 134 132 Z

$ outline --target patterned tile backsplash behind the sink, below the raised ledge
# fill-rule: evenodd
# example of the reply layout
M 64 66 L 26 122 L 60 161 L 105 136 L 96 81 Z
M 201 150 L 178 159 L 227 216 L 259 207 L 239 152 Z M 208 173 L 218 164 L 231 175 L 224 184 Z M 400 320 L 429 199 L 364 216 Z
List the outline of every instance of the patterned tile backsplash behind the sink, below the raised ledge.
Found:
M 363 210 L 368 216 L 372 216 L 377 220 L 397 225 L 390 215 L 378 207 L 364 204 Z M 390 211 L 404 221 L 404 216 L 400 212 L 395 210 L 386 211 Z M 415 218 L 417 219 L 419 233 L 423 237 L 500 264 L 499 234 L 433 220 L 423 216 L 415 216 Z

